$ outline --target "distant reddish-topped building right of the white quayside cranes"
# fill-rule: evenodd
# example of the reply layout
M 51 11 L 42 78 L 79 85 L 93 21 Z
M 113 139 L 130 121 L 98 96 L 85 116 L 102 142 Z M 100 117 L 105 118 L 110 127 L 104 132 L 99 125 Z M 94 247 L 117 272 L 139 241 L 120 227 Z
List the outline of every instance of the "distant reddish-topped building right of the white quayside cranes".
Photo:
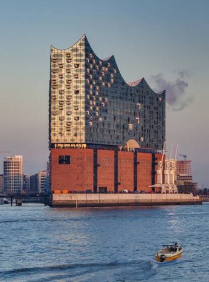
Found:
M 179 193 L 194 193 L 197 183 L 193 182 L 191 161 L 177 161 L 176 185 Z

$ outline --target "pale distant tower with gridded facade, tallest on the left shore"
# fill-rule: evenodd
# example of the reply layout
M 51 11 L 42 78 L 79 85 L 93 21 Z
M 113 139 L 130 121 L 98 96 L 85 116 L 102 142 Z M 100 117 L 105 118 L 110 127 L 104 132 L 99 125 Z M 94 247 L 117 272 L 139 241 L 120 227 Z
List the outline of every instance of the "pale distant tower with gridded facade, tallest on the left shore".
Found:
M 4 158 L 4 192 L 22 193 L 23 191 L 23 157 Z

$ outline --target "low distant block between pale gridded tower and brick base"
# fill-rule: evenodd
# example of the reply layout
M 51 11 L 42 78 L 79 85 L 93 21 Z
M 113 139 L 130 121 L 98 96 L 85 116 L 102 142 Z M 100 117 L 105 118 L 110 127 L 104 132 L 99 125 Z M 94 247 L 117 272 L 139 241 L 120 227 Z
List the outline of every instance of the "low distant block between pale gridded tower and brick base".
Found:
M 30 193 L 45 193 L 48 191 L 47 170 L 39 171 L 30 176 Z

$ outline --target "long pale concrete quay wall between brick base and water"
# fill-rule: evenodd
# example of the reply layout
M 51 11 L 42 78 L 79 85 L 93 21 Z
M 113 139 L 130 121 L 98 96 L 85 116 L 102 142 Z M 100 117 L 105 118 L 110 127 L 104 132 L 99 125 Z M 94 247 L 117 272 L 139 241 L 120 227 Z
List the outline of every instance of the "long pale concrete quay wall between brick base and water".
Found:
M 51 207 L 201 205 L 192 194 L 51 194 Z

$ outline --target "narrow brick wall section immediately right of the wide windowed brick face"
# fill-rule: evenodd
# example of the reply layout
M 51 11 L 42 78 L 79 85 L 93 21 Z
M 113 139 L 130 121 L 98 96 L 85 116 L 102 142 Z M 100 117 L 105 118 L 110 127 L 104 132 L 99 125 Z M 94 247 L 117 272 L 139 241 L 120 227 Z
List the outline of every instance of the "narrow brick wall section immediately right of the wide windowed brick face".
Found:
M 114 192 L 114 153 L 113 150 L 97 150 L 97 189 L 107 187 Z

